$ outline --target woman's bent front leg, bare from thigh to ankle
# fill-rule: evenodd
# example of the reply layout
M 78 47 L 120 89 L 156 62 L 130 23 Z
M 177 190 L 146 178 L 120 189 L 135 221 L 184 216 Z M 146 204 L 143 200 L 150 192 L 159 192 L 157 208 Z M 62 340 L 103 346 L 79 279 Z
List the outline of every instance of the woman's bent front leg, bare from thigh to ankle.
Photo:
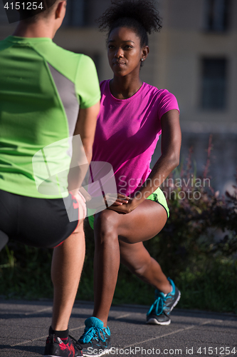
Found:
M 119 239 L 125 243 L 147 241 L 162 230 L 167 221 L 164 208 L 154 201 L 142 202 L 135 211 L 120 214 L 105 210 L 95 216 L 95 260 L 93 316 L 107 326 L 107 316 L 120 267 Z

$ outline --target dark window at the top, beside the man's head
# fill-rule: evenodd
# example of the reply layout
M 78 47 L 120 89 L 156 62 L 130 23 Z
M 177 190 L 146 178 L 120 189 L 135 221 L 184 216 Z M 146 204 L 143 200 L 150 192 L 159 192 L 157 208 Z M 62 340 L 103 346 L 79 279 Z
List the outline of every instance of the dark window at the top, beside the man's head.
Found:
M 63 25 L 80 27 L 86 24 L 86 0 L 68 1 Z

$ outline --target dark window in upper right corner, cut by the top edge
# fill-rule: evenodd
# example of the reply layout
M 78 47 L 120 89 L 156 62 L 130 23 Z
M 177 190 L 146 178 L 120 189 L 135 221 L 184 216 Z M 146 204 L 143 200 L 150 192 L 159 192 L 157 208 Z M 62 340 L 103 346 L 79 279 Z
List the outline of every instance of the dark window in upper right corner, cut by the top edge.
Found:
M 205 0 L 206 31 L 226 31 L 230 0 Z

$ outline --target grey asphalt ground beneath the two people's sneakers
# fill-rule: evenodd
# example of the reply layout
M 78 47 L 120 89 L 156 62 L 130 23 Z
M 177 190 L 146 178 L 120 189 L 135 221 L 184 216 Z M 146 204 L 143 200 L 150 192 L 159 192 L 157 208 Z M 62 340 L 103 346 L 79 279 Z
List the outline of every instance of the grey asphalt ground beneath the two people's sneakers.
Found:
M 146 325 L 149 306 L 112 306 L 110 356 L 237 357 L 237 316 L 174 308 L 169 326 Z M 0 300 L 0 357 L 43 355 L 52 301 Z M 76 301 L 70 334 L 79 338 L 93 303 Z

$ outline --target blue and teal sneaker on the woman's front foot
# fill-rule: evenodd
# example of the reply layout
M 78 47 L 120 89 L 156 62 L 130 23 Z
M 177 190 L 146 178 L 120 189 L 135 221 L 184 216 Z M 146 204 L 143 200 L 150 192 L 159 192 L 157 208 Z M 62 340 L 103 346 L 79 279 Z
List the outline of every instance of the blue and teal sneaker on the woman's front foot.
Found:
M 96 317 L 85 320 L 83 336 L 78 340 L 83 347 L 83 356 L 98 357 L 111 351 L 110 328 L 104 327 Z

